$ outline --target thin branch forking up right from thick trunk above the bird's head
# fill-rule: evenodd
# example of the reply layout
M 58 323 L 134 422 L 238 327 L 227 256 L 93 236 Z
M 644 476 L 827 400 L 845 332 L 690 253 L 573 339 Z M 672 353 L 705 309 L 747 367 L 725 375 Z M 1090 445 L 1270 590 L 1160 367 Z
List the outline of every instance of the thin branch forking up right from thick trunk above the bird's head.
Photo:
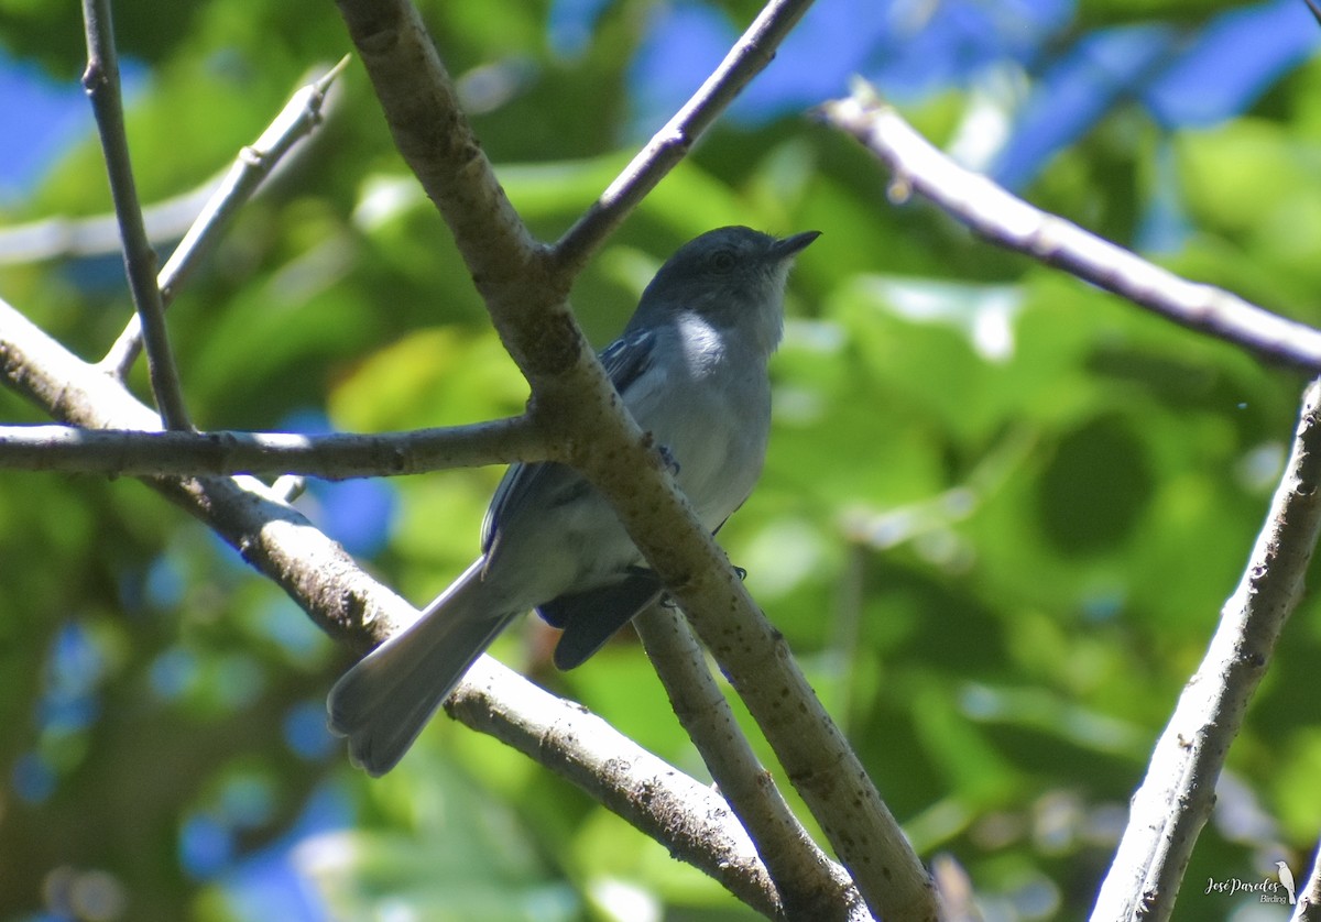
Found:
M 734 96 L 775 57 L 775 48 L 812 0 L 768 3 L 694 96 L 638 152 L 601 197 L 555 244 L 555 256 L 573 271 L 688 153 Z

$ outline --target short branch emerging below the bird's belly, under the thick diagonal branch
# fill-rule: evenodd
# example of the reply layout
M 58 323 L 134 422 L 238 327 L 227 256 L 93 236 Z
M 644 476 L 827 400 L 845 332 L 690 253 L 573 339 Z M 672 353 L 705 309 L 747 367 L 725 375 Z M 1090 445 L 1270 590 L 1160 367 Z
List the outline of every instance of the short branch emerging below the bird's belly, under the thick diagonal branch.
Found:
M 651 605 L 633 620 L 675 716 L 757 845 L 790 919 L 871 919 L 848 874 L 812 841 L 738 728 L 683 616 Z

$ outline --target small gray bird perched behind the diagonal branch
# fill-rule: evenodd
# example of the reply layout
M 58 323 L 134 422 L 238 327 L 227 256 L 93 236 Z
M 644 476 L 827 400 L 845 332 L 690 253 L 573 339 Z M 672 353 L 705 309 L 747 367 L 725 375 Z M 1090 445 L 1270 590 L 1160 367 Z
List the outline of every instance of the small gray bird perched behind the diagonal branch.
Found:
M 783 336 L 786 279 L 818 236 L 731 226 L 688 240 L 600 353 L 625 407 L 712 532 L 761 474 L 768 362 Z M 329 727 L 347 737 L 354 765 L 382 775 L 515 618 L 535 609 L 561 629 L 553 662 L 569 670 L 663 593 L 585 477 L 555 461 L 511 465 L 482 523 L 481 555 L 334 684 Z

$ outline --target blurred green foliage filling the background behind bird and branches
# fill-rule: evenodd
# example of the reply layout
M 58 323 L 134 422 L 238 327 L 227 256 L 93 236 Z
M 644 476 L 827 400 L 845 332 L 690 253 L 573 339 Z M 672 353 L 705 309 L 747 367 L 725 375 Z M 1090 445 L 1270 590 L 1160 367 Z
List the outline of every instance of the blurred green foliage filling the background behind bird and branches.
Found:
M 1089 3 L 1075 28 L 1225 7 Z M 223 169 L 347 45 L 325 5 L 160 11 L 116 7 L 125 54 L 151 67 L 129 112 L 151 201 Z M 605 4 L 575 55 L 547 46 L 544 3 L 424 11 L 514 205 L 553 239 L 629 156 L 626 73 L 651 4 Z M 69 5 L 0 1 L 0 42 L 63 79 L 81 69 Z M 1174 194 L 1188 232 L 1165 264 L 1318 322 L 1318 85 L 1308 63 L 1206 129 L 1165 132 L 1120 103 L 1029 195 L 1133 246 Z M 526 386 L 361 66 L 339 92 L 170 312 L 196 419 L 380 431 L 517 412 Z M 946 141 L 968 111 L 951 90 L 909 114 Z M 791 281 L 766 472 L 721 542 L 922 856 L 962 863 L 988 918 L 1083 918 L 1262 523 L 1303 382 L 896 206 L 886 181 L 802 119 L 717 127 L 588 267 L 575 308 L 604 343 L 700 231 L 824 231 Z M 4 221 L 107 202 L 89 131 Z M 89 357 L 129 310 L 114 256 L 5 267 L 0 292 Z M 0 412 L 38 419 L 9 394 Z M 375 515 L 379 540 L 333 534 L 423 602 L 474 555 L 498 476 L 314 485 L 300 503 L 332 530 Z M 137 483 L 7 474 L 0 560 L 0 919 L 746 917 L 444 719 L 390 777 L 353 771 L 321 724 L 346 655 Z M 551 643 L 528 620 L 494 653 L 701 777 L 631 635 L 568 675 Z M 1201 893 L 1207 878 L 1259 880 L 1281 857 L 1301 877 L 1321 826 L 1301 707 L 1318 647 L 1309 597 L 1176 918 L 1242 907 Z

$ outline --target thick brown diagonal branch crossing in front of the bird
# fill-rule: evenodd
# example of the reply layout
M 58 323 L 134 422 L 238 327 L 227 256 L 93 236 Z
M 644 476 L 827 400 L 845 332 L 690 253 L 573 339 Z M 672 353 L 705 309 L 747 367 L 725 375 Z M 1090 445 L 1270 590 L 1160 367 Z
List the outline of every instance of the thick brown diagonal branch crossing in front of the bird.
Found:
M 417 11 L 406 0 L 338 5 L 400 153 L 449 225 L 532 387 L 532 417 L 564 436 L 569 462 L 610 501 L 694 621 L 869 909 L 935 918 L 931 881 L 857 756 L 624 411 L 568 309 L 571 266 L 534 243 L 509 203 Z

